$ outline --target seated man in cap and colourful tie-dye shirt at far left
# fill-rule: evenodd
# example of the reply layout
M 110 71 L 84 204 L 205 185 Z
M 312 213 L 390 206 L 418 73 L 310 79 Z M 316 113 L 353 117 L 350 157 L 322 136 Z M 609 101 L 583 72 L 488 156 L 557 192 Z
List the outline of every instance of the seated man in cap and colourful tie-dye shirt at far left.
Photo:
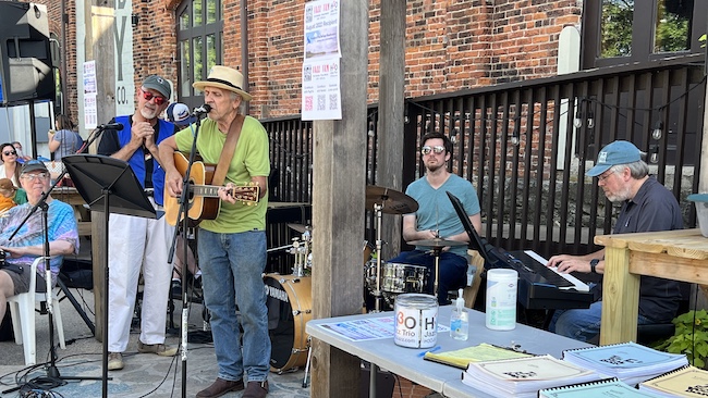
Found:
M 27 203 L 15 206 L 0 217 L 0 250 L 4 254 L 4 261 L 0 263 L 0 320 L 4 318 L 7 298 L 28 291 L 32 263 L 45 253 L 42 212 L 35 211 L 25 222 L 25 217 L 39 202 L 44 192 L 51 187 L 45 163 L 38 160 L 26 161 L 20 172 L 20 184 L 27 192 Z M 78 254 L 78 227 L 71 206 L 52 199 L 51 195 L 45 202 L 48 204 L 47 235 L 53 286 L 64 256 Z M 17 235 L 9 240 L 19 227 Z M 45 263 L 40 262 L 37 266 L 38 293 L 46 291 L 45 275 Z

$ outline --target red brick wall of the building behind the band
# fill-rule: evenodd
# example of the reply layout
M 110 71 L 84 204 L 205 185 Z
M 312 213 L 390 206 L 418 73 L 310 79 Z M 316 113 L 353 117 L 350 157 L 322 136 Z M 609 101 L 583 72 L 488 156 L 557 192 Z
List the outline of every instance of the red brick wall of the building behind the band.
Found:
M 186 0 L 185 0 L 186 1 Z M 190 0 L 191 1 L 191 0 Z M 241 0 L 222 0 L 224 64 L 241 65 Z M 60 5 L 50 10 L 50 30 L 60 36 Z M 137 78 L 159 73 L 176 79 L 180 0 L 133 0 Z M 406 97 L 435 95 L 556 73 L 558 37 L 579 25 L 582 0 L 411 0 L 406 2 Z M 75 42 L 75 1 L 66 1 L 68 42 Z M 261 117 L 300 113 L 304 0 L 247 0 L 252 113 Z M 378 101 L 380 8 L 369 2 L 369 87 Z M 345 16 L 342 16 L 345 17 Z M 71 46 L 68 96 L 76 109 L 75 54 Z

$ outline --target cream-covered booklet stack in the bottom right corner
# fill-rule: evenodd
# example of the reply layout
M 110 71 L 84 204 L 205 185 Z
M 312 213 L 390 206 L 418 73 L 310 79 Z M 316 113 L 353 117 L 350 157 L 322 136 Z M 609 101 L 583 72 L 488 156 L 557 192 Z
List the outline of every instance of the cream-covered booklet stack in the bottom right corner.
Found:
M 708 371 L 685 366 L 639 384 L 659 397 L 708 397 Z

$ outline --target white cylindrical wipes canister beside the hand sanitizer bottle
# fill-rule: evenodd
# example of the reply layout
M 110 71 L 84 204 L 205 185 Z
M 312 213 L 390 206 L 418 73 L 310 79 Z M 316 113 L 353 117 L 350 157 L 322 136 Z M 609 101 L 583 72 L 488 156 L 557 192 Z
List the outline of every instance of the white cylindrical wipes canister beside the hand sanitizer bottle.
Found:
M 516 286 L 518 273 L 514 270 L 487 271 L 487 302 L 485 323 L 493 331 L 516 327 Z

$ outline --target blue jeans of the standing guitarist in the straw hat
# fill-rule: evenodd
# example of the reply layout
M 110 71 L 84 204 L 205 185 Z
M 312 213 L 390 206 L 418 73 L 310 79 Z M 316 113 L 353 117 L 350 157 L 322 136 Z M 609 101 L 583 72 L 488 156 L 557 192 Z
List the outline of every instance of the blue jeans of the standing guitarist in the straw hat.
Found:
M 219 377 L 240 381 L 245 372 L 247 382 L 264 382 L 270 371 L 268 309 L 263 281 L 266 233 L 217 234 L 199 229 L 197 245 L 204 301 L 211 312 Z M 240 325 L 243 326 L 243 352 Z

